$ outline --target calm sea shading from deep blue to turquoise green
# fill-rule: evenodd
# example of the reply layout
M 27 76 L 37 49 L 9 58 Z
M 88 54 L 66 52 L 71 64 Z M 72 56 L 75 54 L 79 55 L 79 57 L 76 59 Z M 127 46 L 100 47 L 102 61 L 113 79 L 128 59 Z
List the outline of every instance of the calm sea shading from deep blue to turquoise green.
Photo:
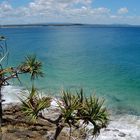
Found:
M 43 62 L 40 89 L 58 94 L 82 87 L 86 95 L 104 97 L 118 113 L 140 114 L 139 27 L 1 28 L 0 34 L 8 38 L 9 65 L 32 53 Z

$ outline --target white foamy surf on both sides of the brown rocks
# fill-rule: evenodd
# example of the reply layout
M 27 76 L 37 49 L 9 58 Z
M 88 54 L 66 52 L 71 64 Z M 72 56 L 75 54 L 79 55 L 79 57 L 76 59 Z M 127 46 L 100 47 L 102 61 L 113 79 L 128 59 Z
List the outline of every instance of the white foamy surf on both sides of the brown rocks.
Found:
M 9 89 L 13 88 L 13 92 L 18 93 L 18 95 L 21 90 L 21 89 L 14 88 L 12 86 L 8 88 Z M 6 93 L 6 91 L 4 91 L 4 93 Z M 9 93 L 7 93 L 7 95 L 4 96 L 4 99 L 6 100 L 6 102 L 3 103 L 4 108 L 9 107 L 11 104 L 19 104 L 20 101 L 17 101 L 18 99 L 17 97 L 15 98 L 14 96 L 11 96 L 12 98 L 10 98 L 10 97 L 7 97 L 8 95 Z M 52 102 L 51 102 L 52 110 L 57 108 L 56 100 L 57 100 L 56 98 L 52 99 Z M 89 133 L 90 129 L 92 128 L 90 125 L 88 125 L 86 140 L 92 139 L 92 136 Z M 112 113 L 110 115 L 110 122 L 109 122 L 108 127 L 106 129 L 101 130 L 101 134 L 99 135 L 97 140 L 112 140 L 114 138 L 116 138 L 117 140 L 124 140 L 124 139 L 137 140 L 137 139 L 140 139 L 139 132 L 140 132 L 140 116 Z

